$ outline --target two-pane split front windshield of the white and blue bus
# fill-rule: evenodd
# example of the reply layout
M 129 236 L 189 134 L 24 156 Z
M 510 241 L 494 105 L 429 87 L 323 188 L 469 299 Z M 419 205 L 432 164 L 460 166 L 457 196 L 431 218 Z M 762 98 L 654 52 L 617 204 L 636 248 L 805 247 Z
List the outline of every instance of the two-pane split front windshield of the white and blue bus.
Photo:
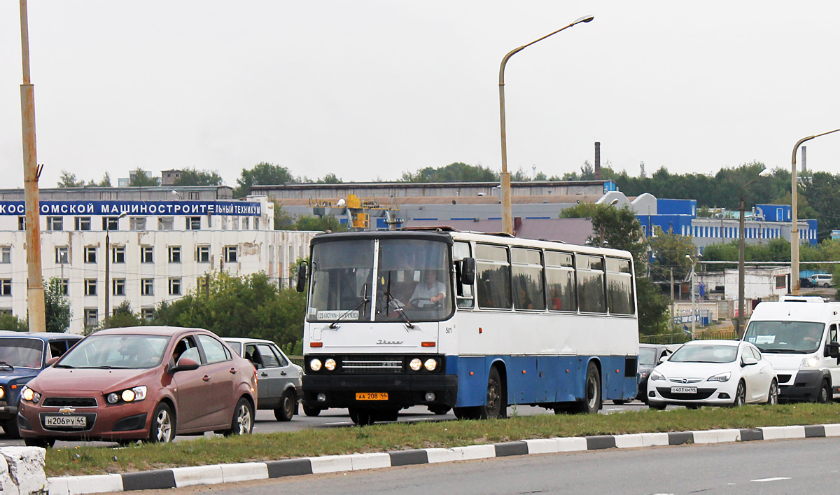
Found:
M 378 260 L 374 259 L 376 242 Z M 307 321 L 416 322 L 449 317 L 448 247 L 443 242 L 417 239 L 313 245 Z M 375 282 L 374 266 L 378 270 Z

